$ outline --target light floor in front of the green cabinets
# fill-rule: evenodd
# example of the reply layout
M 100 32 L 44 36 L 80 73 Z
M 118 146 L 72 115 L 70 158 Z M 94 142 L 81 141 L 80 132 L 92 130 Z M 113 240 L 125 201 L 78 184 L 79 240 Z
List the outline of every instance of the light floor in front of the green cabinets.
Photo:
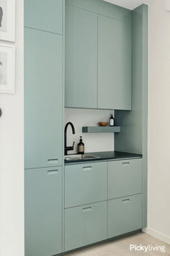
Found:
M 130 244 L 137 244 L 137 245 L 145 245 L 148 246 L 148 244 L 151 245 L 158 245 L 163 246 L 166 249 L 166 252 L 156 252 L 156 251 L 150 251 L 150 252 L 135 252 L 130 251 Z M 143 232 L 140 232 L 138 234 L 133 234 L 131 236 L 127 236 L 125 238 L 117 239 L 112 242 L 106 242 L 104 244 L 99 244 L 94 247 L 90 247 L 88 249 L 81 249 L 76 252 L 72 252 L 67 254 L 66 256 L 135 256 L 135 255 L 152 255 L 152 256 L 158 256 L 158 255 L 165 255 L 170 256 L 170 244 L 166 244 L 164 242 L 161 242 L 160 240 L 154 238 L 153 236 L 150 236 L 148 234 L 145 234 Z

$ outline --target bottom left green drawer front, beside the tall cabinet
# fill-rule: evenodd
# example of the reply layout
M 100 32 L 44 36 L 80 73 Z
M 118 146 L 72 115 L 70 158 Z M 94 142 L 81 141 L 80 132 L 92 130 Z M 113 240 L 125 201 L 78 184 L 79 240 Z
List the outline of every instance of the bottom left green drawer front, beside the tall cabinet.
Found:
M 65 210 L 65 250 L 107 239 L 107 202 Z

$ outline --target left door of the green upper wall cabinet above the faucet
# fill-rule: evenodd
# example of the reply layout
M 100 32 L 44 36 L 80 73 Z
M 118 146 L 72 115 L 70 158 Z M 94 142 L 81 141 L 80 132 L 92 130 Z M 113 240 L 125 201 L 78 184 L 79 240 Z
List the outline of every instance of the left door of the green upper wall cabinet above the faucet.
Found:
M 97 14 L 66 5 L 66 107 L 97 108 Z

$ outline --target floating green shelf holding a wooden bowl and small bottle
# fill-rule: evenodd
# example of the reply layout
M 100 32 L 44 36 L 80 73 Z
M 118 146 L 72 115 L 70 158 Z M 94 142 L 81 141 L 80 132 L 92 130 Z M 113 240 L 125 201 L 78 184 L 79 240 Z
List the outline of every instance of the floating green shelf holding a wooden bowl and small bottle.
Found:
M 120 132 L 120 127 L 82 127 L 82 132 Z

